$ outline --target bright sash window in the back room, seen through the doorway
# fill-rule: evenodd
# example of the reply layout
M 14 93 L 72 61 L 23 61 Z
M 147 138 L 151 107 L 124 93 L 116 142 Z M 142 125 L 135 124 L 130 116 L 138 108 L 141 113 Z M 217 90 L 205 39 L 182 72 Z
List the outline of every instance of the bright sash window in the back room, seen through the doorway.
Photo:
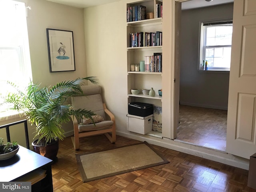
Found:
M 200 70 L 229 71 L 232 44 L 232 21 L 201 24 Z

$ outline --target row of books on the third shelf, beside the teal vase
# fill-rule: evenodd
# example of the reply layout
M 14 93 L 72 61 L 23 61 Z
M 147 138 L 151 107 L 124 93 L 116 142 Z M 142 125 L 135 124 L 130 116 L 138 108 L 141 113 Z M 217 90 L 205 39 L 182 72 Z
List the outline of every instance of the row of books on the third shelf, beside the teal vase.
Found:
M 162 53 L 145 56 L 145 72 L 162 72 Z

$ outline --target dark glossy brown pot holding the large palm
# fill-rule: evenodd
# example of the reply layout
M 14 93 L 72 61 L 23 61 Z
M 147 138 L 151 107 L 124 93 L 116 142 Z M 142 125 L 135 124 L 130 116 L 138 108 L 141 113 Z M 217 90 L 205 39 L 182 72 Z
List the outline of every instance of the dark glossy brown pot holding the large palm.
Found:
M 37 145 L 37 141 L 38 139 L 32 142 L 34 151 L 51 160 L 56 160 L 57 153 L 59 150 L 59 139 L 57 138 L 56 141 L 54 140 L 50 144 L 47 144 L 46 146 Z

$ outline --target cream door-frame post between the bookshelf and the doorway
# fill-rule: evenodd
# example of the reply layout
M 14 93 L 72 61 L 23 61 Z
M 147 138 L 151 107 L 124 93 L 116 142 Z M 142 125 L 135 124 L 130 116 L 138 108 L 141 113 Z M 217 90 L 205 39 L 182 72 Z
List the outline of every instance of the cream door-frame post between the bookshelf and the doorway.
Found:
M 171 34 L 165 36 L 163 43 L 163 70 L 162 72 L 162 137 L 168 139 L 176 138 L 176 130 L 179 121 L 179 95 L 180 95 L 180 56 L 179 56 L 179 31 L 181 17 L 181 2 L 184 0 L 163 1 L 163 33 Z M 173 15 L 175 13 L 175 15 Z M 171 65 L 171 67 L 170 67 Z M 174 82 L 175 80 L 175 82 Z M 170 90 L 169 92 L 164 90 Z

